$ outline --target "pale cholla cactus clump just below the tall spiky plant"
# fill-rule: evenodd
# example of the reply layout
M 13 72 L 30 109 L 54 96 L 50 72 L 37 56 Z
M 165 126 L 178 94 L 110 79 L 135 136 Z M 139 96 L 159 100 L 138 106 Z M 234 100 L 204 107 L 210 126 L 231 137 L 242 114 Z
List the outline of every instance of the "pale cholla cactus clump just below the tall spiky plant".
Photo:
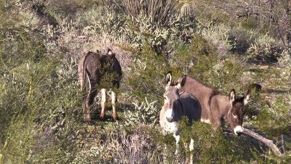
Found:
M 189 43 L 193 35 L 195 25 L 185 24 L 181 16 L 176 15 L 171 19 L 171 26 L 153 26 L 149 17 L 138 16 L 135 21 L 128 20 L 126 35 L 129 42 L 136 48 L 142 48 L 149 44 L 160 55 L 163 51 L 171 51 L 170 45 L 177 40 Z

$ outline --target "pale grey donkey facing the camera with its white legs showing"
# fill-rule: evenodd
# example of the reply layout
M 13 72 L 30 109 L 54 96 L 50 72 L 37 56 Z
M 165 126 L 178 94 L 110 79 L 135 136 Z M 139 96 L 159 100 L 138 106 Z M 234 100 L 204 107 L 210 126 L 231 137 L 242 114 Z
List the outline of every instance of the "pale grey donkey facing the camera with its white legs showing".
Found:
M 178 82 L 173 85 L 171 81 L 172 75 L 171 71 L 169 71 L 165 77 L 166 92 L 164 94 L 164 106 L 160 112 L 160 125 L 164 131 L 174 133 L 173 136 L 176 139 L 177 145 L 180 139 L 177 121 L 183 115 L 188 117 L 189 122 L 192 122 L 192 120 L 200 120 L 201 105 L 192 94 L 188 92 L 179 93 L 179 89 L 183 87 L 183 84 Z M 193 140 L 190 142 L 190 151 L 191 144 L 193 144 Z

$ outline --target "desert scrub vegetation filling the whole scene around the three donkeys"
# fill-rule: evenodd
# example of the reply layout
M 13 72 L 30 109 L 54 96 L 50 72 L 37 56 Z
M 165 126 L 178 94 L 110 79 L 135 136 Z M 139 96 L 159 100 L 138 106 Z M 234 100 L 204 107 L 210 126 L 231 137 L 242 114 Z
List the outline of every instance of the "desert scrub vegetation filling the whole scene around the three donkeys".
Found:
M 0 1 L 0 163 L 183 163 L 191 137 L 197 163 L 289 163 L 290 11 L 287 0 Z M 119 120 L 107 110 L 100 121 L 98 95 L 84 122 L 77 64 L 107 48 L 123 72 Z M 214 133 L 187 118 L 175 155 L 174 137 L 159 126 L 169 70 L 225 94 L 261 85 L 243 125 L 283 155 L 227 124 Z

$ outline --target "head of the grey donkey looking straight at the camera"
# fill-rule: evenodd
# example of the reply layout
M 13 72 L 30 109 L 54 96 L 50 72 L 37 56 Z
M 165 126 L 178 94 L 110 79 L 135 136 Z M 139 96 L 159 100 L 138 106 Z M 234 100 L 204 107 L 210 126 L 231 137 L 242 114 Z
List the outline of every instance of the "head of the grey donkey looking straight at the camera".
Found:
M 166 112 L 166 118 L 168 122 L 177 121 L 182 115 L 182 106 L 179 101 L 180 94 L 179 89 L 185 84 L 185 78 L 183 76 L 180 80 L 173 85 L 172 83 L 172 74 L 169 71 L 165 77 L 165 90 L 164 93 L 164 110 Z

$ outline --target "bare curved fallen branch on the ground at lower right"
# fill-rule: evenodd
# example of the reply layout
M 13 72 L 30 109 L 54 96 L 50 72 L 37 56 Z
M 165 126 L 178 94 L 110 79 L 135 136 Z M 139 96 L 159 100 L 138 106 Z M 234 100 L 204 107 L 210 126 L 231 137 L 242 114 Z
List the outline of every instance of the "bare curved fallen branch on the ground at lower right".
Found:
M 263 142 L 265 145 L 267 145 L 269 148 L 271 148 L 276 155 L 282 156 L 282 153 L 280 152 L 279 148 L 273 143 L 272 140 L 266 139 L 265 137 L 255 133 L 255 132 L 253 132 L 251 130 L 248 130 L 246 128 L 244 128 L 243 133 L 245 133 L 245 134 L 247 134 L 249 136 L 252 136 L 255 139 Z

